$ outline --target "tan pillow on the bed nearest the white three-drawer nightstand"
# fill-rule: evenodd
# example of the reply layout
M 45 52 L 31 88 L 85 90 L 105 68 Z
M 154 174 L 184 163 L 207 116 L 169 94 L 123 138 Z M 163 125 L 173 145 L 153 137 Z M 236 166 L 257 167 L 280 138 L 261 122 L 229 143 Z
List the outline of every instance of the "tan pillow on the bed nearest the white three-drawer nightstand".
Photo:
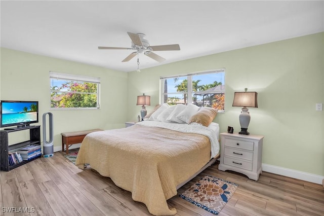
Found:
M 217 110 L 212 107 L 202 107 L 199 111 L 190 117 L 189 124 L 192 122 L 208 127 L 217 115 Z

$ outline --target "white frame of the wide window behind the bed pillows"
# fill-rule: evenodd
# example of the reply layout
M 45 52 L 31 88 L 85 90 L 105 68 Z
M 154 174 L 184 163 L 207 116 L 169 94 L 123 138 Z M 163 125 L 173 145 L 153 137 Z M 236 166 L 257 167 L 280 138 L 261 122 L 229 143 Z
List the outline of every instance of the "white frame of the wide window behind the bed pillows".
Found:
M 173 75 L 173 76 L 166 76 L 166 77 L 160 77 L 160 90 L 159 90 L 159 103 L 163 103 L 163 98 L 164 95 L 166 94 L 179 94 L 179 93 L 183 93 L 183 94 L 187 94 L 187 95 L 193 95 L 193 91 L 192 91 L 192 76 L 195 75 L 204 75 L 204 74 L 216 74 L 216 73 L 224 73 L 225 74 L 225 68 L 219 68 L 219 69 L 212 69 L 212 70 L 204 70 L 204 71 L 198 71 L 198 72 L 194 72 L 194 73 L 189 73 L 189 74 L 181 74 L 181 75 Z M 180 77 L 187 77 L 187 92 L 176 92 L 176 93 L 164 93 L 164 80 L 165 79 L 172 79 L 172 78 L 180 78 Z M 224 83 L 222 85 L 225 85 L 225 76 L 224 76 Z M 222 89 L 220 92 L 219 91 L 211 91 L 210 93 L 224 93 L 225 94 L 225 86 L 224 89 Z M 226 99 L 226 97 L 225 97 Z M 192 97 L 188 96 L 187 97 L 187 104 L 192 103 Z M 224 113 L 225 110 L 219 110 L 219 113 Z

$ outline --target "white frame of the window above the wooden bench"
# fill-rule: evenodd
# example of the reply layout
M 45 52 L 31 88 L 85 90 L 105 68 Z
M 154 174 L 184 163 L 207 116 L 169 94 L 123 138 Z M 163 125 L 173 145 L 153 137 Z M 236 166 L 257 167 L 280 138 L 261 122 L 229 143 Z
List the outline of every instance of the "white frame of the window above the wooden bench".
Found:
M 87 82 L 87 83 L 96 83 L 97 84 L 97 92 L 89 94 L 97 95 L 97 106 L 96 107 L 51 107 L 51 93 L 67 93 L 67 91 L 52 91 L 50 89 L 50 110 L 97 110 L 100 109 L 100 78 L 98 77 L 88 77 L 82 75 L 74 75 L 74 74 L 63 74 L 57 73 L 54 71 L 50 71 L 50 87 L 51 87 L 51 79 L 57 80 L 69 80 L 69 81 L 77 81 L 77 82 Z M 85 94 L 85 92 L 71 92 L 74 94 Z M 86 93 L 88 94 L 88 93 Z

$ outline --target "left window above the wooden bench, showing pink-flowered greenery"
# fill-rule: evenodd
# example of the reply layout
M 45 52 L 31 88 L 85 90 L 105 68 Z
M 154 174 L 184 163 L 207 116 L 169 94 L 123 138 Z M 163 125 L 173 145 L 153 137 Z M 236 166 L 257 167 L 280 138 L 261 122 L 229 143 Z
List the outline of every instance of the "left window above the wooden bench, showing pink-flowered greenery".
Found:
M 99 109 L 100 78 L 50 71 L 51 109 Z

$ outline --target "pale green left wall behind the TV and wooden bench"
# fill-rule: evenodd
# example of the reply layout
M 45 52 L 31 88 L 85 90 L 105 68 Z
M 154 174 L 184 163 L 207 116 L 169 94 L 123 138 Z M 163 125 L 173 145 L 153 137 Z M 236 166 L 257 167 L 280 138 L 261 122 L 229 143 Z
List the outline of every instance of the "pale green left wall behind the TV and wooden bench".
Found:
M 100 77 L 100 109 L 50 110 L 50 70 Z M 1 48 L 1 99 L 39 101 L 41 126 L 43 114 L 53 113 L 54 149 L 61 147 L 61 132 L 125 127 L 127 80 L 128 74 L 120 71 Z M 17 134 L 10 133 L 12 143 L 26 138 Z

